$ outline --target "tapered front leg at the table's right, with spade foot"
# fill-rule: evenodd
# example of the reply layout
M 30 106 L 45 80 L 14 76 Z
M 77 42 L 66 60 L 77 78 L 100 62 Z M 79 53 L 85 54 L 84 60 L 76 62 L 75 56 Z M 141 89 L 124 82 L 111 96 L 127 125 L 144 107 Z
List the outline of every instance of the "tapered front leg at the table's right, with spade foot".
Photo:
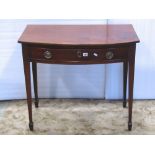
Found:
M 133 106 L 133 87 L 134 87 L 134 68 L 135 68 L 135 47 L 132 46 L 129 52 L 129 120 L 128 130 L 132 130 L 132 106 Z

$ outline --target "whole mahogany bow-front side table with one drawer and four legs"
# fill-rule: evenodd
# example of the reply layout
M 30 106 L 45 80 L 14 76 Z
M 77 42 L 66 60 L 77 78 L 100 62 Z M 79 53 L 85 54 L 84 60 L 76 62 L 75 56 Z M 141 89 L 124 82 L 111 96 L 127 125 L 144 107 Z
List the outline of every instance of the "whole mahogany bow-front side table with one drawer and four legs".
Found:
M 128 130 L 132 105 L 136 43 L 132 25 L 28 25 L 18 40 L 22 44 L 29 128 L 33 130 L 30 63 L 38 107 L 37 63 L 81 65 L 123 63 L 123 107 L 129 78 Z M 129 68 L 129 74 L 128 74 Z

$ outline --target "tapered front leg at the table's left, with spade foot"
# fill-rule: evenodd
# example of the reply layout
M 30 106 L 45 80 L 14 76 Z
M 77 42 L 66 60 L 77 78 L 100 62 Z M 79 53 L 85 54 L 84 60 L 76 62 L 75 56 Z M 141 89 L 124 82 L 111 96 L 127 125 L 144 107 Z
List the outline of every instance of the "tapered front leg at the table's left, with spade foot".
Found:
M 27 105 L 29 114 L 29 128 L 31 131 L 33 131 L 30 62 L 24 61 L 24 72 L 25 72 Z

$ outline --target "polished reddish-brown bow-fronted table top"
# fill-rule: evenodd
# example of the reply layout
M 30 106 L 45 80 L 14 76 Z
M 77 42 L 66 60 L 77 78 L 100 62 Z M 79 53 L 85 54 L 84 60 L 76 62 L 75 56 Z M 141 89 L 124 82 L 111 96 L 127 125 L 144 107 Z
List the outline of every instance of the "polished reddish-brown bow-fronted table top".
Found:
M 132 25 L 28 25 L 19 43 L 114 45 L 138 43 Z

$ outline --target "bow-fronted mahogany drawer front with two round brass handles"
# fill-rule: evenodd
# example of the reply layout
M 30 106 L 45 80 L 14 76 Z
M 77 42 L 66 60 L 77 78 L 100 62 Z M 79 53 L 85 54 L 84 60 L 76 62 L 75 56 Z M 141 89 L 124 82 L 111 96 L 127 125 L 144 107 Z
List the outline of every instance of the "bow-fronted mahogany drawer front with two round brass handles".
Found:
M 127 48 L 52 49 L 30 48 L 32 61 L 49 63 L 104 63 L 127 59 Z

